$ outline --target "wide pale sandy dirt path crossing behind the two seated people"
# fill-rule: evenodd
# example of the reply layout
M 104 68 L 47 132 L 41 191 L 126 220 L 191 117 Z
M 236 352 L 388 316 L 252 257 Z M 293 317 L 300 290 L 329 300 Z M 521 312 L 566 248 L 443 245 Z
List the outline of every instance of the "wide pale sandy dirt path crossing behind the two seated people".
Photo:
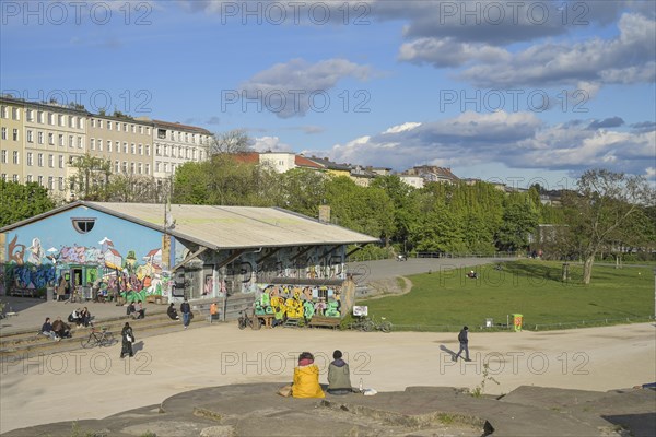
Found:
M 139 333 L 136 333 L 137 336 Z M 490 393 L 523 385 L 610 390 L 656 380 L 653 323 L 570 331 L 472 333 L 471 363 L 452 361 L 453 333 L 239 331 L 208 326 L 144 339 L 130 361 L 119 346 L 2 363 L 0 432 L 63 420 L 104 417 L 157 404 L 181 391 L 236 382 L 289 382 L 298 353 L 315 353 L 323 370 L 335 349 L 351 364 L 351 381 L 378 391 L 408 386 L 475 388 L 489 365 Z

